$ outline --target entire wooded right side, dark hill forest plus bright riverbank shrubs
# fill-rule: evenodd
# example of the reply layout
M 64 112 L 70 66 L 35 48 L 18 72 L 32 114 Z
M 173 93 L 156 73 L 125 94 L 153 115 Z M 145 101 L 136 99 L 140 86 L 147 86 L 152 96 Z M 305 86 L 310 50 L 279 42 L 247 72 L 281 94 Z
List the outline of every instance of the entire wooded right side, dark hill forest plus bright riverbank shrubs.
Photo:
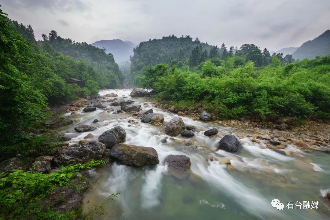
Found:
M 271 55 L 267 48 L 261 50 L 253 44 L 230 47 L 228 51 L 223 44 L 216 51 L 212 46 L 204 50 L 196 45 L 184 58 L 177 53 L 183 49 L 175 45 L 167 57 L 177 58 L 163 59 L 162 64 L 150 67 L 155 61 L 146 58 L 151 52 L 147 48 L 164 39 L 178 41 L 165 37 L 141 43 L 134 51 L 131 68 L 134 83 L 154 89 L 161 99 L 190 108 L 203 103 L 223 118 L 265 118 L 267 114 L 301 119 L 330 117 L 330 56 L 295 61 L 292 55 Z M 186 41 L 195 43 L 191 38 Z

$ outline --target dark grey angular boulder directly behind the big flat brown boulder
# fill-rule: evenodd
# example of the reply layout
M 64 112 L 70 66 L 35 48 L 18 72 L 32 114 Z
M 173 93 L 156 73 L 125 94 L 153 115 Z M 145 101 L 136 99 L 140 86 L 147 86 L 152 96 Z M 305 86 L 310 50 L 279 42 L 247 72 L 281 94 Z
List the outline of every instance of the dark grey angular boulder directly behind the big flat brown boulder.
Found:
M 120 127 L 116 126 L 99 136 L 98 140 L 106 145 L 107 148 L 112 148 L 117 143 L 121 143 L 125 140 L 126 132 Z

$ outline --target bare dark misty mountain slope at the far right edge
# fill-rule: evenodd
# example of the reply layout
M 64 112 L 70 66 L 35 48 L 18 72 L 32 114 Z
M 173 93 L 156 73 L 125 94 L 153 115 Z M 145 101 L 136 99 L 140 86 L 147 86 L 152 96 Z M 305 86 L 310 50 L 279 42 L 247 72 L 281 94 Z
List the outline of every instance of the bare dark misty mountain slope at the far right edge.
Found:
M 330 54 L 330 30 L 327 30 L 314 40 L 303 43 L 292 53 L 294 59 L 313 59 L 315 56 L 328 56 Z

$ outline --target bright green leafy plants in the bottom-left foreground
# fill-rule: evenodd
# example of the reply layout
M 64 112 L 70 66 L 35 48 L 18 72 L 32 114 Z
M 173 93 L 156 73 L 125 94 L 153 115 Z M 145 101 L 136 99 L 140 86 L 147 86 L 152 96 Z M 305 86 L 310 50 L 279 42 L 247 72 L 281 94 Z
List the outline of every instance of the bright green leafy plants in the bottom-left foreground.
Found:
M 58 186 L 67 186 L 82 169 L 91 169 L 104 161 L 91 160 L 84 164 L 61 167 L 53 173 L 23 172 L 0 173 L 0 217 L 3 219 L 74 219 L 76 213 L 59 214 L 52 207 L 40 204 Z

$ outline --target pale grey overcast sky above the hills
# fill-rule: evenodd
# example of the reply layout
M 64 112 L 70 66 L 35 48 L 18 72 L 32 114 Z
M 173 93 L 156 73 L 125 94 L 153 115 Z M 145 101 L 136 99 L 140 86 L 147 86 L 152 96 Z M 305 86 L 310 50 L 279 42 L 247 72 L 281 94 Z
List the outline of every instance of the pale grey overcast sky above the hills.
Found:
M 36 38 L 56 30 L 93 43 L 191 35 L 227 47 L 255 44 L 271 51 L 299 47 L 330 29 L 330 0 L 2 0 L 13 20 Z

